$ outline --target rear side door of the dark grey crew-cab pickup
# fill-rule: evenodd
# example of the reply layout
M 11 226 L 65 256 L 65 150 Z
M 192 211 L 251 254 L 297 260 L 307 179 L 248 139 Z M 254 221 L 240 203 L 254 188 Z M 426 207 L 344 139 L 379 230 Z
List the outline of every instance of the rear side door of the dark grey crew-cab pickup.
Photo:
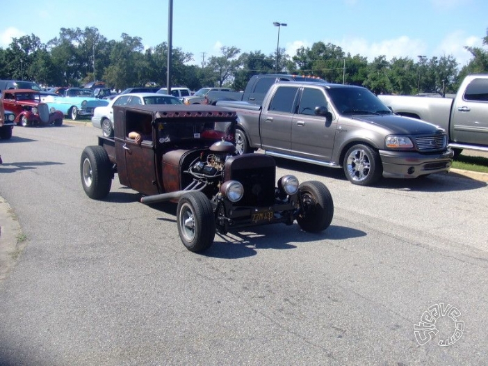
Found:
M 261 112 L 259 129 L 263 150 L 291 151 L 291 121 L 296 109 L 298 86 L 279 86 L 268 109 Z

